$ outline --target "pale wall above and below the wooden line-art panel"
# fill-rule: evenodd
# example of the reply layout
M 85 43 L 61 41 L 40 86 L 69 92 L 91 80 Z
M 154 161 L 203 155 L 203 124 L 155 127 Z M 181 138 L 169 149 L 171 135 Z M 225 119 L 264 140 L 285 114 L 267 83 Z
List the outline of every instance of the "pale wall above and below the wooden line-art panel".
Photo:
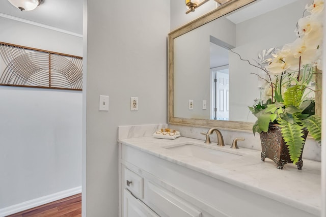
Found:
M 82 38 L 6 18 L 0 26 L 2 42 L 83 55 Z M 80 187 L 81 91 L 0 86 L 0 114 L 0 215 Z

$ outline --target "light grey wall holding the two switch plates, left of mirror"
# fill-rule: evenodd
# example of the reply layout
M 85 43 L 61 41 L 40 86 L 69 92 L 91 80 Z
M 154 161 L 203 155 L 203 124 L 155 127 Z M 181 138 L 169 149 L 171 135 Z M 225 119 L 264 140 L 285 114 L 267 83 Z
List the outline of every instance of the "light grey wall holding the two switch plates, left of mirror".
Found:
M 83 213 L 118 216 L 118 126 L 167 122 L 170 1 L 89 0 L 87 16 Z M 98 111 L 99 95 L 110 96 L 109 111 Z

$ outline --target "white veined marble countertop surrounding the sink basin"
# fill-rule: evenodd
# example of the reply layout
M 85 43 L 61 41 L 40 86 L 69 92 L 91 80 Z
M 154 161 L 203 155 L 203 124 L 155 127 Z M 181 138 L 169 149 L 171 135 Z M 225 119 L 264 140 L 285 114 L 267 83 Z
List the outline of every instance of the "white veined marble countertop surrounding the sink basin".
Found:
M 219 147 L 216 146 L 216 143 L 209 144 L 213 149 L 242 156 L 241 158 L 218 164 L 185 154 L 178 154 L 173 150 L 165 148 L 180 144 L 207 146 L 203 140 L 186 137 L 169 140 L 156 139 L 149 136 L 121 139 L 119 143 L 137 148 L 158 158 L 275 199 L 295 208 L 320 215 L 320 162 L 303 159 L 304 165 L 302 170 L 298 170 L 296 165 L 293 164 L 286 164 L 283 170 L 279 170 L 276 168 L 276 163 L 270 159 L 266 158 L 265 162 L 262 162 L 260 151 L 248 148 L 231 149 L 230 145 Z

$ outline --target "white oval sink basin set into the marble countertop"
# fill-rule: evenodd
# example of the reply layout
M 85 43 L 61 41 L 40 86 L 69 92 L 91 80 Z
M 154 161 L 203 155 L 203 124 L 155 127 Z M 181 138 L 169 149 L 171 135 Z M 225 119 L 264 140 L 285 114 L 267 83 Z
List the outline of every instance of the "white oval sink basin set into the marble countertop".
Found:
M 209 161 L 215 164 L 223 164 L 226 162 L 230 162 L 232 160 L 242 158 L 242 156 L 239 154 L 213 149 L 209 146 L 203 147 L 195 144 L 182 144 L 182 145 L 166 147 L 166 148 L 175 151 L 179 154 L 183 154 L 194 158 L 199 158 L 201 160 Z M 223 148 L 227 148 L 227 147 L 223 147 Z

